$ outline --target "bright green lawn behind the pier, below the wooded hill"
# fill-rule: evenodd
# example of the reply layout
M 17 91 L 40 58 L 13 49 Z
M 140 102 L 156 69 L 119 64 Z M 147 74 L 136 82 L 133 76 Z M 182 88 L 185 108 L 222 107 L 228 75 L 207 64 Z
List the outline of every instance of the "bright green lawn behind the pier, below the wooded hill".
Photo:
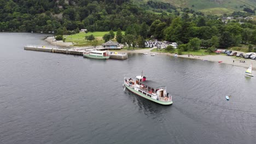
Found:
M 80 32 L 77 34 L 67 35 L 65 38 L 65 42 L 72 42 L 74 46 L 90 46 L 92 43 L 90 41 L 85 40 L 86 35 L 93 34 L 95 39 L 97 40 L 97 45 L 101 45 L 104 43 L 104 40 L 102 39 L 104 34 L 107 34 L 109 32 Z M 122 32 L 124 34 L 124 32 Z M 117 32 L 114 32 L 114 34 L 117 34 Z M 115 40 L 115 39 L 114 39 Z

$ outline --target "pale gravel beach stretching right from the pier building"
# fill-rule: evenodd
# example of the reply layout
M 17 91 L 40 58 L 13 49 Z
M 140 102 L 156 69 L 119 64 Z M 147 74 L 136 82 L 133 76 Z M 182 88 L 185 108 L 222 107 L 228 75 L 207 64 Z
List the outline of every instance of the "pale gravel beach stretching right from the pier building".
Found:
M 151 49 L 143 49 L 143 50 L 134 50 L 134 51 L 122 51 L 127 53 L 155 53 L 155 55 L 170 55 L 174 56 L 174 53 L 162 53 L 162 52 L 150 52 L 154 48 Z M 234 51 L 237 53 L 241 53 L 240 51 Z M 212 61 L 212 62 L 219 62 L 222 61 L 220 64 L 232 64 L 236 65 L 238 67 L 244 67 L 248 68 L 249 65 L 252 63 L 253 65 L 256 65 L 256 61 L 254 59 L 245 59 L 241 57 L 235 57 L 235 56 L 223 56 L 223 55 L 205 55 L 205 56 L 188 56 L 188 55 L 178 55 L 178 57 L 184 57 L 184 58 L 193 58 L 193 59 L 199 59 L 201 61 Z M 234 63 L 233 63 L 234 61 Z M 245 61 L 245 63 L 241 63 L 240 61 Z M 253 70 L 256 70 L 256 67 L 253 67 Z

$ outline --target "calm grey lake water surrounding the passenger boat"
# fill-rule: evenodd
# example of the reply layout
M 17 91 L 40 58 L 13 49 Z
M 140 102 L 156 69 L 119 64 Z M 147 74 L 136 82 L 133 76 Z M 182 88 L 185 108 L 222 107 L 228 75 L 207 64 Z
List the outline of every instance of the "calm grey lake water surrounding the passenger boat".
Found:
M 166 55 L 102 61 L 24 50 L 48 45 L 44 37 L 0 33 L 0 143 L 256 143 L 256 77 L 247 79 L 246 68 Z M 167 86 L 171 106 L 124 91 L 124 75 L 142 70 Z

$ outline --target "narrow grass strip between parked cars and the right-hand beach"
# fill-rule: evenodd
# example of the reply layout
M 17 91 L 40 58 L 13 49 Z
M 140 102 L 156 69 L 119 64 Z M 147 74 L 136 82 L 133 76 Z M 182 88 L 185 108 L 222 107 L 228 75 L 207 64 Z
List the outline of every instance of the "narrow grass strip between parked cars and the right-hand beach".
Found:
M 214 52 L 209 53 L 209 52 L 205 52 L 205 51 L 206 51 L 205 49 L 201 49 L 198 51 L 183 51 L 182 55 L 188 55 L 188 54 L 194 55 L 194 56 L 216 55 L 216 53 L 214 53 Z M 153 49 L 152 52 L 178 53 L 178 49 L 175 49 L 174 52 L 166 51 L 165 49 L 164 50 Z

